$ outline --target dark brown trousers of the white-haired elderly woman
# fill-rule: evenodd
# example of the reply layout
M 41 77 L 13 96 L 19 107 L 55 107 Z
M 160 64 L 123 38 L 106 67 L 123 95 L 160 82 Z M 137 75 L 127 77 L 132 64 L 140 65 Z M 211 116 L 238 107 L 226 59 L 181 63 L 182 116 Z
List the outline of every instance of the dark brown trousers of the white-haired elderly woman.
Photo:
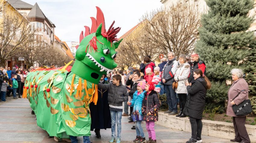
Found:
M 250 138 L 245 128 L 246 117 L 233 117 L 233 124 L 235 128 L 235 138 L 242 140 L 242 142 L 249 143 Z

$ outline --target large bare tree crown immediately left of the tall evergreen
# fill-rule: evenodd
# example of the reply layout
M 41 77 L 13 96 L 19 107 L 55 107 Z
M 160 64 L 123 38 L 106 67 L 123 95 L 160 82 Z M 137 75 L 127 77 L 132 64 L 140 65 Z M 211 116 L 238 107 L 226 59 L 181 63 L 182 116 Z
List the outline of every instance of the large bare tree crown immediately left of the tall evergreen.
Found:
M 197 39 L 200 25 L 200 12 L 194 4 L 177 2 L 170 8 L 161 8 L 146 13 L 145 40 L 155 45 L 155 50 L 167 54 L 190 54 Z

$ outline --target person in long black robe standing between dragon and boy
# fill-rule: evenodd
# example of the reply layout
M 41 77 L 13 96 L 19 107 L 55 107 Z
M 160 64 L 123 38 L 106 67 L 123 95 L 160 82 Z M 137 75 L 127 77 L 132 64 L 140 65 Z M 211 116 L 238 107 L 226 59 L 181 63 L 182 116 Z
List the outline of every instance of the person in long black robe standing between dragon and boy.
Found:
M 100 79 L 101 84 L 108 84 L 109 82 L 106 81 L 106 75 L 103 75 Z M 98 87 L 98 101 L 97 105 L 91 103 L 90 106 L 91 111 L 91 131 L 94 130 L 96 134 L 96 138 L 101 138 L 100 129 L 107 129 L 111 128 L 111 117 L 110 117 L 110 110 L 108 104 L 108 90 L 103 90 Z

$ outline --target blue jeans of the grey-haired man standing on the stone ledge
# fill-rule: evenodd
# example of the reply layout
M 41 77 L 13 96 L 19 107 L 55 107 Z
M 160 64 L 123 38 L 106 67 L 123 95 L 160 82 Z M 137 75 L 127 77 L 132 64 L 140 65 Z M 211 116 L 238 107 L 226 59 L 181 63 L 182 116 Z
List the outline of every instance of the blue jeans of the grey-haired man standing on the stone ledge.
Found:
M 173 85 L 164 85 L 166 100 L 169 107 L 169 111 L 178 112 L 177 110 L 177 98 L 176 93 L 173 90 Z

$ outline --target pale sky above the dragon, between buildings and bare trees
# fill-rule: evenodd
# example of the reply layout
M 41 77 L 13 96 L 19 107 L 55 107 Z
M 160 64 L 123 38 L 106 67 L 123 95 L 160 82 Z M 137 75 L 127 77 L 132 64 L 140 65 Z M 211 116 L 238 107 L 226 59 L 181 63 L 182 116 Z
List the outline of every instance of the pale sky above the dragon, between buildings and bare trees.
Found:
M 62 41 L 79 41 L 83 26 L 91 27 L 90 17 L 95 17 L 101 8 L 106 29 L 115 20 L 114 27 L 121 27 L 117 37 L 122 36 L 139 23 L 147 11 L 160 8 L 160 0 L 23 0 L 31 5 L 36 2 L 56 26 L 55 35 Z

